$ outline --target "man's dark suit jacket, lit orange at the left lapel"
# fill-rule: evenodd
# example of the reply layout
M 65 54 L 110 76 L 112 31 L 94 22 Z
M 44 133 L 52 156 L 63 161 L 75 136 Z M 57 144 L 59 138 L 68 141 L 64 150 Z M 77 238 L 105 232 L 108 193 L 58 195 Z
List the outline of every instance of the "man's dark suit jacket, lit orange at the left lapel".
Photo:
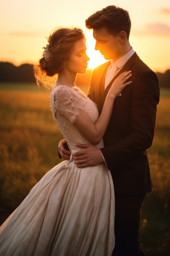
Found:
M 106 94 L 120 73 L 131 70 L 132 83 L 115 99 L 101 149 L 113 177 L 115 192 L 139 195 L 152 191 L 147 148 L 155 132 L 159 81 L 157 75 L 135 53 L 104 90 L 110 61 L 93 70 L 89 97 L 102 111 Z

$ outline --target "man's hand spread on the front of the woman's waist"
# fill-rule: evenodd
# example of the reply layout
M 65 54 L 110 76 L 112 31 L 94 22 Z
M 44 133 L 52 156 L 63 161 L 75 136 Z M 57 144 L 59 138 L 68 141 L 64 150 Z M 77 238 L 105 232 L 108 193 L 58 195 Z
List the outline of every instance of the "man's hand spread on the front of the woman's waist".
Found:
M 77 151 L 73 155 L 74 162 L 78 168 L 96 166 L 104 162 L 102 153 L 99 148 L 91 144 L 77 144 L 82 150 Z

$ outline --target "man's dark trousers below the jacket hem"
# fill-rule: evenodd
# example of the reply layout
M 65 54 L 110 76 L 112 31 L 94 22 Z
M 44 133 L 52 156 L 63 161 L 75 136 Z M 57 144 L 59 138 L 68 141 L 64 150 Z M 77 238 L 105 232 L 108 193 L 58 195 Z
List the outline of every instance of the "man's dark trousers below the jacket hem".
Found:
M 139 241 L 141 204 L 145 195 L 115 193 L 115 248 L 112 256 L 144 256 Z

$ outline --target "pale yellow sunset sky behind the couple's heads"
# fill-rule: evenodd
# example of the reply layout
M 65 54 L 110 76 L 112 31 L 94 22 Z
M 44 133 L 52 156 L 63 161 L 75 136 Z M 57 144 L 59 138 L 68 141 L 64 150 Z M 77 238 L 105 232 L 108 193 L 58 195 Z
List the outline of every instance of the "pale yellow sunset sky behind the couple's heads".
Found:
M 42 56 L 46 37 L 53 29 L 80 27 L 88 41 L 88 67 L 103 63 L 85 20 L 111 4 L 129 11 L 130 44 L 139 57 L 156 72 L 170 69 L 170 0 L 2 0 L 0 61 L 34 64 Z

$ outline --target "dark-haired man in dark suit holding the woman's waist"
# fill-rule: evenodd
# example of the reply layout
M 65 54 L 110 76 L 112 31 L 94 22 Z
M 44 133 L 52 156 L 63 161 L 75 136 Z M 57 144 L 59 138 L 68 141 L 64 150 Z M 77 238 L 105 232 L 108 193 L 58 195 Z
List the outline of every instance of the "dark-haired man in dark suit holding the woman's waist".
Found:
M 91 76 L 89 97 L 97 103 L 99 114 L 111 84 L 121 72 L 131 70 L 132 83 L 114 102 L 104 135 L 104 148 L 99 150 L 91 144 L 79 144 L 82 150 L 74 154 L 74 160 L 79 168 L 105 162 L 112 173 L 116 211 L 112 255 L 145 255 L 140 247 L 139 222 L 141 204 L 146 193 L 152 191 L 146 150 L 152 145 L 155 132 L 159 81 L 130 46 L 128 11 L 108 6 L 91 15 L 86 27 L 93 29 L 95 49 L 111 60 L 96 67 Z M 64 143 L 60 142 L 59 153 L 68 159 Z

